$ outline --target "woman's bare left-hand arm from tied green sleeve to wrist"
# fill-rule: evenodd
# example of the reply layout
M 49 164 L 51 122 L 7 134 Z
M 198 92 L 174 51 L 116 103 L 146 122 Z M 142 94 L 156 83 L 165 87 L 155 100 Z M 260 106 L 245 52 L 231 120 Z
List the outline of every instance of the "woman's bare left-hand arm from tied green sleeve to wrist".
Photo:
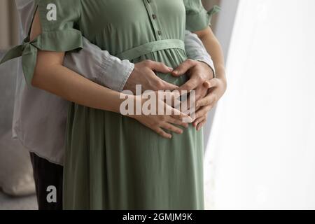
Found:
M 41 22 L 36 12 L 31 27 L 31 40 L 41 34 Z M 120 93 L 80 76 L 62 66 L 64 52 L 38 50 L 32 85 L 56 94 L 70 102 L 94 109 L 119 113 Z

